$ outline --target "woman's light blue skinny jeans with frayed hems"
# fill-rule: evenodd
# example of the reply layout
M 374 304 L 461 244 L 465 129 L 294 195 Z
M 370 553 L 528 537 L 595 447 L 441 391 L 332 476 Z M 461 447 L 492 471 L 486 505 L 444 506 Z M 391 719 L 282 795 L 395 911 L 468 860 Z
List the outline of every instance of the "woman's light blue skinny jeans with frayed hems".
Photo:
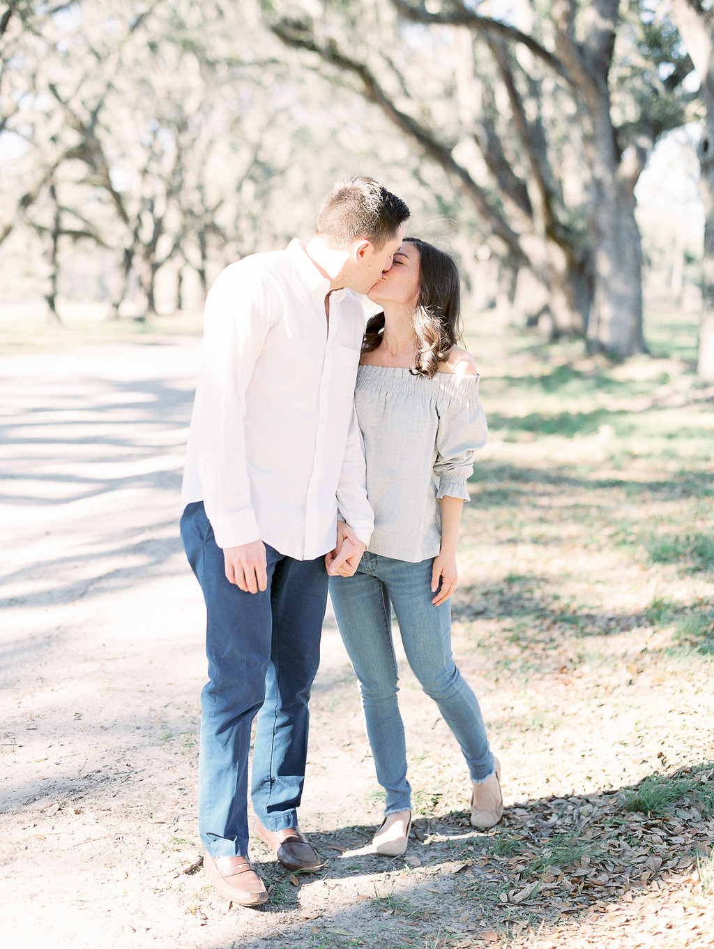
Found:
M 412 672 L 461 746 L 471 780 L 485 780 L 495 767 L 478 699 L 451 655 L 450 600 L 431 603 L 432 564 L 432 559 L 412 564 L 367 552 L 354 577 L 330 577 L 330 599 L 357 676 L 376 778 L 385 791 L 385 814 L 412 809 L 396 698 L 392 606 Z

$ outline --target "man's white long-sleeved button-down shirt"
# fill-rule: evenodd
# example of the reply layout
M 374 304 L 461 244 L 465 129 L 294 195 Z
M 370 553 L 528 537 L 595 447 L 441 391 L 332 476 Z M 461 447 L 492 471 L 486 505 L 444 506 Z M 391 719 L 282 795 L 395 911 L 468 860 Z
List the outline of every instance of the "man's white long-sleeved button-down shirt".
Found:
M 335 547 L 340 516 L 369 543 L 353 397 L 364 332 L 351 293 L 293 240 L 231 264 L 211 287 L 182 507 L 203 501 L 216 543 L 260 538 L 298 560 Z

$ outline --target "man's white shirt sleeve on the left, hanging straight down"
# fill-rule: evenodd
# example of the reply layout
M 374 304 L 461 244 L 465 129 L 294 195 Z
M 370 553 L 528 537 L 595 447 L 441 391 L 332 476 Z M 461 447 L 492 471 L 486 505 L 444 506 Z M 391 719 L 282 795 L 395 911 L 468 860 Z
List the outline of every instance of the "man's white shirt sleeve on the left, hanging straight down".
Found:
M 265 277 L 242 262 L 213 284 L 204 308 L 192 428 L 204 506 L 220 548 L 260 538 L 246 464 L 246 390 L 271 325 Z

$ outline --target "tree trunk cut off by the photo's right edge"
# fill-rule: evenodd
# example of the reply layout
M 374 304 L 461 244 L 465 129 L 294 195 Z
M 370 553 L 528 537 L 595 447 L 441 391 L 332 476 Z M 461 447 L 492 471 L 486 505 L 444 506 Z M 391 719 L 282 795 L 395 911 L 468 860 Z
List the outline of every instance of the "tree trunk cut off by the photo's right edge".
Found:
M 672 14 L 701 80 L 705 105 L 699 141 L 701 192 L 705 207 L 702 266 L 702 324 L 697 371 L 714 381 L 714 9 L 702 0 L 672 0 Z

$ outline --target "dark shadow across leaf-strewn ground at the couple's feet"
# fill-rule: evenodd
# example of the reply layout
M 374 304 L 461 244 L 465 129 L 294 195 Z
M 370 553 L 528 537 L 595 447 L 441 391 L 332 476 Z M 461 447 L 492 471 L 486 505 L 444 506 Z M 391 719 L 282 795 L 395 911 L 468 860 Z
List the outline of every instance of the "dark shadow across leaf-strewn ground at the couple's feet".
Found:
M 616 791 L 544 797 L 507 809 L 502 823 L 486 833 L 470 828 L 466 812 L 419 818 L 407 854 L 392 860 L 365 851 L 373 827 L 311 832 L 328 858 L 317 874 L 290 874 L 260 845 L 254 863 L 270 902 L 231 911 L 238 924 L 244 914 L 280 917 L 280 931 L 242 941 L 242 949 L 392 949 L 485 933 L 486 941 L 503 943 L 524 927 L 563 925 L 627 907 L 649 891 L 682 884 L 697 860 L 708 858 L 714 846 L 712 778 L 714 762 L 706 761 L 674 774 L 653 773 Z M 192 872 L 197 877 L 201 870 Z M 350 905 L 331 911 L 329 893 L 340 882 L 355 881 Z M 296 921 L 302 886 L 318 882 L 325 900 L 320 905 L 314 898 L 318 910 Z M 275 941 L 280 938 L 284 942 Z

